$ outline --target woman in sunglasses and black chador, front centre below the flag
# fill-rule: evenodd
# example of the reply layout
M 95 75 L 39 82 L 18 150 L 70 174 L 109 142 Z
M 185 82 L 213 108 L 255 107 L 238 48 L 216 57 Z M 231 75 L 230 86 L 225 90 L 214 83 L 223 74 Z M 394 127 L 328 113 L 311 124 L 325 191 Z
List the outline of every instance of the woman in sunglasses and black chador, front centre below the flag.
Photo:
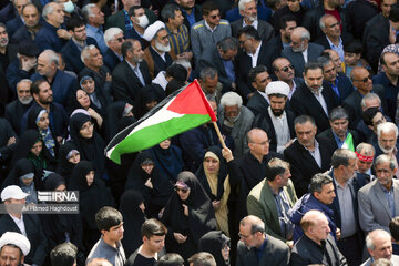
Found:
M 178 253 L 185 260 L 197 252 L 200 238 L 216 229 L 212 202 L 193 173 L 184 171 L 177 175 L 162 222 L 167 226 L 167 252 Z

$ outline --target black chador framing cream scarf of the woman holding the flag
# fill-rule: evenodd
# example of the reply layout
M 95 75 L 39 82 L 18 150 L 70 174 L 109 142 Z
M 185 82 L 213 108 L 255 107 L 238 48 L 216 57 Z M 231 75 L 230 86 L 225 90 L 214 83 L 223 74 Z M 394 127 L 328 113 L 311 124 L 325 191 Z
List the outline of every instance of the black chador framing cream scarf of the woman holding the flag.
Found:
M 219 201 L 224 193 L 224 182 L 227 176 L 227 165 L 225 158 L 222 156 L 222 150 L 218 146 L 211 146 L 206 152 L 214 153 L 219 160 L 219 172 L 217 176 L 217 195 L 212 194 L 209 183 L 207 182 L 204 163 L 201 164 L 198 171 L 195 173 L 196 177 L 204 187 L 206 194 L 211 197 L 211 201 Z M 205 154 L 206 154 L 205 152 Z M 205 160 L 205 157 L 204 157 Z

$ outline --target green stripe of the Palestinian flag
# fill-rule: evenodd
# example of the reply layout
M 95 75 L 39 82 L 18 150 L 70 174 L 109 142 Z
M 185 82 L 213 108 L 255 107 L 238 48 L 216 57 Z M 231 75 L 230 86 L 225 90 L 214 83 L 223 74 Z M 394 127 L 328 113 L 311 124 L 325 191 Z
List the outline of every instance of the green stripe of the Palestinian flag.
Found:
M 211 121 L 209 115 L 186 114 L 182 117 L 171 119 L 168 121 L 144 127 L 121 141 L 111 153 L 111 160 L 120 162 L 120 156 L 125 153 L 134 153 L 177 135 L 184 131 L 194 129 L 201 124 Z

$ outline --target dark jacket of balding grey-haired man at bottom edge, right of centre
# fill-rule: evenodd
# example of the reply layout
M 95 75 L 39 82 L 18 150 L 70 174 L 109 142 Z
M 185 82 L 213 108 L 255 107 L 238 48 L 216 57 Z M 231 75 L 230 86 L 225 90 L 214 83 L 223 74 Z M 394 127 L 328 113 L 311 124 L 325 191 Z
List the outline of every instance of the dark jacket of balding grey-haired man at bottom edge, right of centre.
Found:
M 284 242 L 266 234 L 266 246 L 258 262 L 256 248 L 252 247 L 248 249 L 243 242 L 238 242 L 236 266 L 247 265 L 289 265 L 289 248 Z

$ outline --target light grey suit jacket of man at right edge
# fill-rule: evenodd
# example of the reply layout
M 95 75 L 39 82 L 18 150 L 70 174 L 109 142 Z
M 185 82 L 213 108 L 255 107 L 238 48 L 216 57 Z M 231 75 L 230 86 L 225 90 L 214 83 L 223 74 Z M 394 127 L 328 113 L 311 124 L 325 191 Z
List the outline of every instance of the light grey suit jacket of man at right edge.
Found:
M 395 214 L 399 215 L 399 181 L 393 182 Z M 365 232 L 385 229 L 389 232 L 389 222 L 393 215 L 389 211 L 386 195 L 378 180 L 365 185 L 358 192 L 359 222 Z

